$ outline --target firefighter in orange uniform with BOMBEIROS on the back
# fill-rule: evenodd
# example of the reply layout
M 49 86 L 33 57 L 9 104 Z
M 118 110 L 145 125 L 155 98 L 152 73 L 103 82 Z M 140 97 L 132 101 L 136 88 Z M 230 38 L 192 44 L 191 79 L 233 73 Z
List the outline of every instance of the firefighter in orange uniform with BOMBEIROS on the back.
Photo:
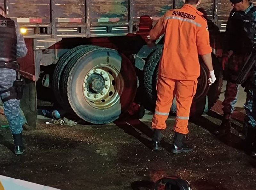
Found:
M 202 56 L 210 71 L 209 84 L 216 80 L 207 22 L 203 13 L 196 9 L 199 4 L 200 0 L 186 0 L 182 8 L 168 11 L 148 36 L 148 45 L 151 46 L 165 34 L 158 72 L 156 108 L 152 119 L 153 150 L 159 149 L 163 137 L 161 131 L 166 128 L 166 120 L 175 95 L 177 113 L 172 152 L 193 150 L 192 146 L 182 141 L 184 135 L 188 134 L 190 107 L 200 75 L 198 54 Z

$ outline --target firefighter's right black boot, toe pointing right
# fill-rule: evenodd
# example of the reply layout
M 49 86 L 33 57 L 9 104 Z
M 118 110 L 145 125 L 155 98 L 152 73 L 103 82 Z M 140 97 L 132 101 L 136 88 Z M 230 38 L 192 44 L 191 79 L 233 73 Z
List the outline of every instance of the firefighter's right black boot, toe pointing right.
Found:
M 181 133 L 177 133 L 177 132 L 174 133 L 174 139 L 173 139 L 172 149 L 171 149 L 172 153 L 178 154 L 178 153 L 190 152 L 194 150 L 192 146 L 188 146 L 184 142 L 182 142 L 184 136 L 185 135 Z

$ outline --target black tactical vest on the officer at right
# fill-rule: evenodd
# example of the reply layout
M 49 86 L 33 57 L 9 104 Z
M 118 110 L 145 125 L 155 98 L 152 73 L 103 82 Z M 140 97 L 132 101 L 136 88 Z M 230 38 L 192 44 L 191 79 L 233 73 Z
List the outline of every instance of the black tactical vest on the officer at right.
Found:
M 231 24 L 233 31 L 232 50 L 236 53 L 248 52 L 252 48 L 252 41 L 256 31 L 252 28 L 252 14 L 256 7 L 252 7 L 245 15 L 241 11 L 231 12 Z

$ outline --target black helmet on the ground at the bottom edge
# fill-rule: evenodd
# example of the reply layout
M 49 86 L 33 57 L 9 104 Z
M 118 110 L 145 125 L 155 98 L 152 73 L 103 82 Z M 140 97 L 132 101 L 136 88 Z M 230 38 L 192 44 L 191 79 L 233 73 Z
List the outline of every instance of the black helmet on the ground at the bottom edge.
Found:
M 154 190 L 158 190 L 160 183 L 165 184 L 165 190 L 192 190 L 187 180 L 175 176 L 168 176 L 159 179 L 155 183 Z

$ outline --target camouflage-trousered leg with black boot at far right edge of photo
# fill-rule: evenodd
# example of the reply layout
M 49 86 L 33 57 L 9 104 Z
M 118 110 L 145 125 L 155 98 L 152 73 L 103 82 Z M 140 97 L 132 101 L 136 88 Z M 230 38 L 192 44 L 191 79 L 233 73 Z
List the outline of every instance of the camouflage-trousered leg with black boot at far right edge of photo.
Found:
M 256 85 L 250 84 L 246 89 L 246 102 L 244 109 L 245 151 L 256 157 Z

